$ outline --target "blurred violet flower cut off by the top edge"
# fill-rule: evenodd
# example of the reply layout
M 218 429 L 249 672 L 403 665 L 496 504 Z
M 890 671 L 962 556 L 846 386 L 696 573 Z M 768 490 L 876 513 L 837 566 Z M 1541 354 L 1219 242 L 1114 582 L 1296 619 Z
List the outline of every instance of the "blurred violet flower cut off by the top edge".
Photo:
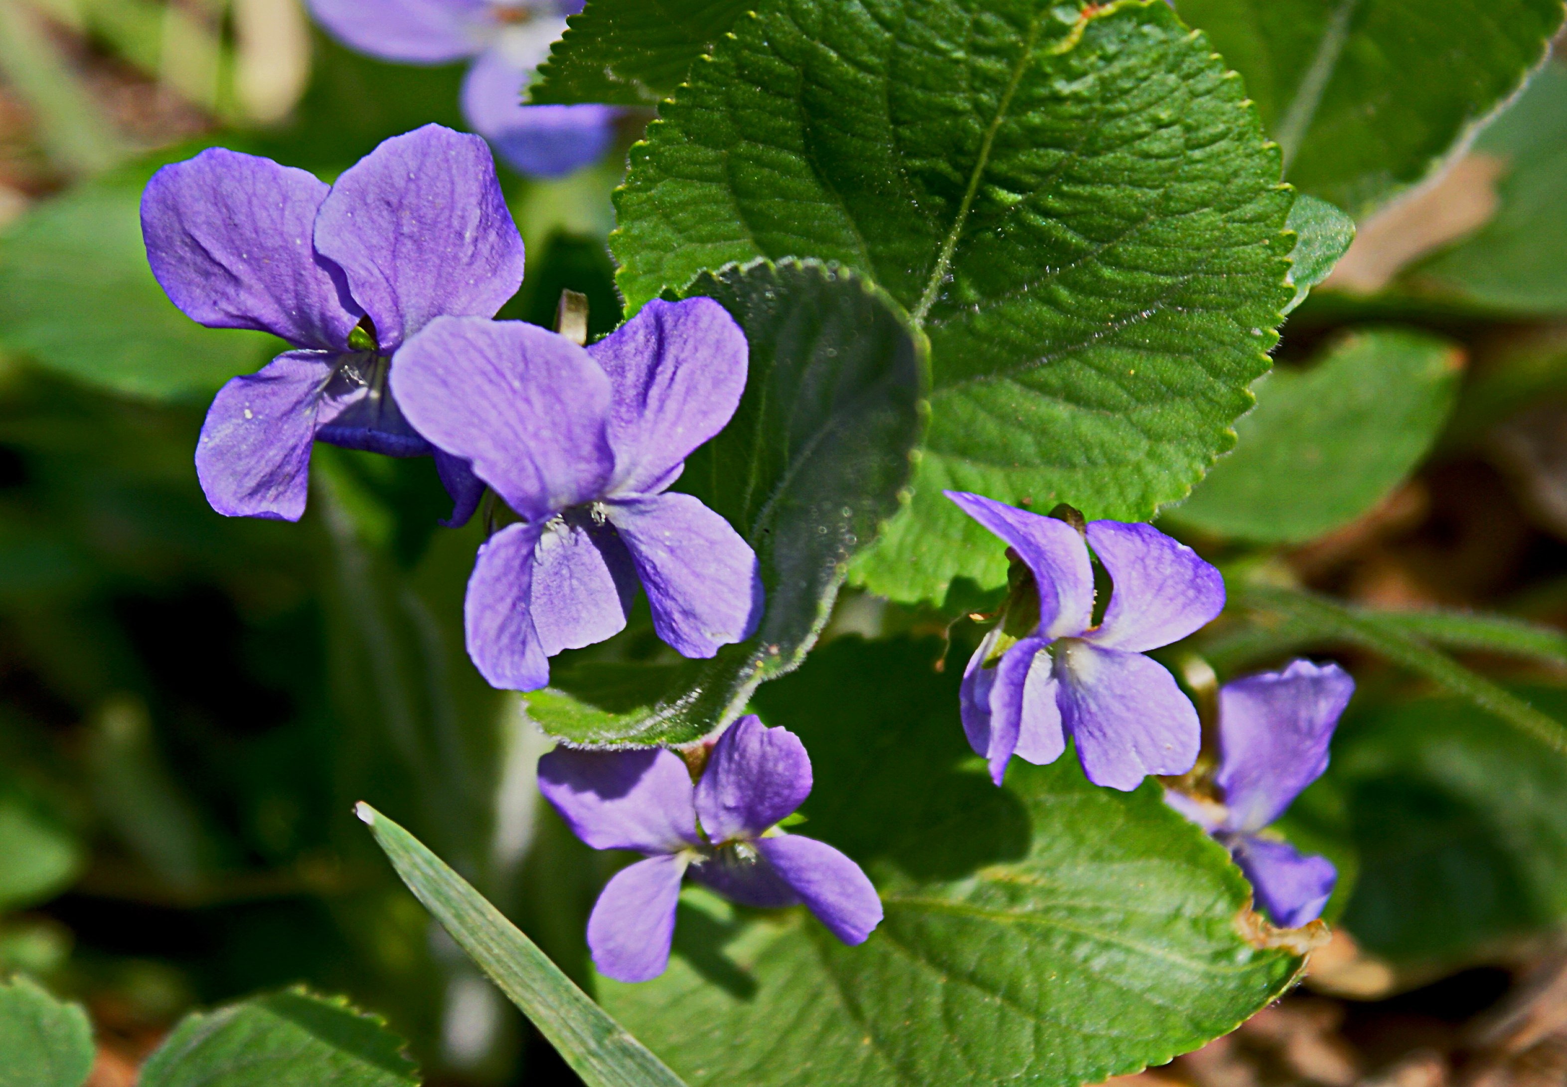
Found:
M 404 64 L 475 58 L 462 113 L 501 158 L 525 174 L 558 177 L 597 162 L 614 138 L 608 105 L 522 105 L 533 69 L 581 0 L 310 0 L 315 17 L 349 49 Z

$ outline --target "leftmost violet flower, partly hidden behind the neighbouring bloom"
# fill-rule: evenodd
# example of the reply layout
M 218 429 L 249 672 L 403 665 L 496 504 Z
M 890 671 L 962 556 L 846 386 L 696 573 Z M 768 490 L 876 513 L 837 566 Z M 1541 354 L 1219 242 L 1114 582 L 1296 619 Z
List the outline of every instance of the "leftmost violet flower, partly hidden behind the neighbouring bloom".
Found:
M 213 510 L 298 521 L 320 439 L 434 455 L 456 504 L 448 524 L 469 519 L 483 485 L 407 424 L 387 372 L 432 317 L 490 317 L 522 282 L 522 235 L 483 140 L 425 125 L 332 187 L 212 147 L 152 176 L 141 232 L 152 274 L 186 317 L 298 348 L 213 398 L 196 445 Z

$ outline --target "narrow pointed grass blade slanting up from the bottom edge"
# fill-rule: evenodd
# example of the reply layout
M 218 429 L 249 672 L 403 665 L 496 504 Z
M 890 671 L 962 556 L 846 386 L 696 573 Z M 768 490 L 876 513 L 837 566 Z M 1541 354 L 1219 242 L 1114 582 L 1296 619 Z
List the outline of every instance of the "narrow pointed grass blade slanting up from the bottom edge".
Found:
M 370 805 L 359 805 L 359 817 L 414 896 L 533 1020 L 588 1087 L 683 1087 L 679 1076 L 417 838 Z

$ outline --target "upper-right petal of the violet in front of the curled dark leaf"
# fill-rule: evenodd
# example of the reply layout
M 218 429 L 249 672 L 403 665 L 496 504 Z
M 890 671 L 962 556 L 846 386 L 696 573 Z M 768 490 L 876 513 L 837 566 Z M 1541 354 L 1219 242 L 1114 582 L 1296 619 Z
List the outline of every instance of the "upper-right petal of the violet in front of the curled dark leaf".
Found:
M 711 298 L 655 298 L 588 348 L 614 386 L 614 491 L 649 493 L 735 414 L 746 334 Z

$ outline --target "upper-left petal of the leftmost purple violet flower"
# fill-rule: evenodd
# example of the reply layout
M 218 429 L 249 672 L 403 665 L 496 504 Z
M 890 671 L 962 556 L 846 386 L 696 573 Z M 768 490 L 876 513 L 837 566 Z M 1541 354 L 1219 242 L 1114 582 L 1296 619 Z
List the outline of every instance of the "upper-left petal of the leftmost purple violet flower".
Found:
M 208 328 L 345 350 L 359 314 L 345 307 L 340 273 L 310 242 L 326 194 L 302 169 L 208 147 L 147 182 L 147 264 L 169 300 Z

